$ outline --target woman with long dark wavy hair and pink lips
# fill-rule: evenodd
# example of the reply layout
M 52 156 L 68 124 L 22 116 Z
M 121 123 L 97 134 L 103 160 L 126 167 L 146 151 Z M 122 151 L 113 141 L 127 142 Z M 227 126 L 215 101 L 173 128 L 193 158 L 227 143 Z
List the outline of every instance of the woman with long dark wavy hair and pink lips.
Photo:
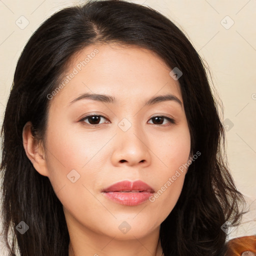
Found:
M 202 61 L 149 7 L 62 9 L 18 60 L 3 224 L 21 255 L 224 255 L 243 196 Z

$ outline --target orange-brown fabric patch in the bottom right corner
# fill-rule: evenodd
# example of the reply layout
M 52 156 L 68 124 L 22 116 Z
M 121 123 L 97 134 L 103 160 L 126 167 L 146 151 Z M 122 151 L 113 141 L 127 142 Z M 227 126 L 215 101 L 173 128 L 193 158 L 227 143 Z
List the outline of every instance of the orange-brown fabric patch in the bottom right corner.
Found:
M 245 253 L 245 251 L 251 251 L 251 253 Z M 244 253 L 243 253 L 244 252 Z M 256 235 L 241 236 L 231 239 L 227 242 L 226 256 L 246 256 L 256 255 Z

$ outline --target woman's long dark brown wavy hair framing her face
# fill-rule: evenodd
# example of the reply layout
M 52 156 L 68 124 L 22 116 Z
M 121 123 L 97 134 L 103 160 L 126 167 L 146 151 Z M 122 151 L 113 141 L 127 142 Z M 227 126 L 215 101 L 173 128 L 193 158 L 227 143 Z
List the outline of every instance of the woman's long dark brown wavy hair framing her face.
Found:
M 1 129 L 3 233 L 9 255 L 67 256 L 69 234 L 62 204 L 46 176 L 26 156 L 22 128 L 43 142 L 50 100 L 71 57 L 94 43 L 118 42 L 149 49 L 178 79 L 191 137 L 201 152 L 185 175 L 180 197 L 160 225 L 164 256 L 224 255 L 225 221 L 238 224 L 244 203 L 229 172 L 219 103 L 207 68 L 184 33 L 156 10 L 123 0 L 89 1 L 46 19 L 26 43 L 16 65 Z M 15 228 L 24 221 L 29 230 Z M 11 240 L 8 241 L 8 235 Z

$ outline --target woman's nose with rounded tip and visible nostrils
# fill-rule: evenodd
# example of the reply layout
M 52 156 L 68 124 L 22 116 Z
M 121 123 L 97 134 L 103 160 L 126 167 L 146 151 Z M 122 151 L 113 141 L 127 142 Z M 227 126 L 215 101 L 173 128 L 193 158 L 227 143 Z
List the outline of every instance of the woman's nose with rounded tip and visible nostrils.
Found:
M 118 165 L 141 165 L 143 167 L 151 163 L 149 138 L 138 125 L 131 124 L 130 128 L 123 131 L 116 127 L 116 135 L 113 141 L 111 162 Z

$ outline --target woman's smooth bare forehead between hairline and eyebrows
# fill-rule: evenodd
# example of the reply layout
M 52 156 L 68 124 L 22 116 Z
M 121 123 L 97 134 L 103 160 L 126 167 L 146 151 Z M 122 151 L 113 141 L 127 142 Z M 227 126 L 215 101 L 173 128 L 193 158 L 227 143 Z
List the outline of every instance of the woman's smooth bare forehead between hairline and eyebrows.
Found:
M 67 104 L 85 92 L 106 93 L 129 101 L 172 93 L 182 101 L 179 83 L 169 75 L 170 70 L 155 52 L 139 46 L 89 45 L 70 59 L 53 101 Z

